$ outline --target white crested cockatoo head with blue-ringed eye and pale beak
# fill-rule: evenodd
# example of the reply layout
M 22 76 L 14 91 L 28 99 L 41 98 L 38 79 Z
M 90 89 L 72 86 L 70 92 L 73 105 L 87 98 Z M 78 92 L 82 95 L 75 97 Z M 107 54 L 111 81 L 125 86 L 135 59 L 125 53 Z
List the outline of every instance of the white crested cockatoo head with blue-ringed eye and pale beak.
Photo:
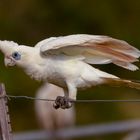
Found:
M 32 47 L 18 45 L 13 41 L 0 41 L 0 51 L 4 54 L 5 66 L 27 64 Z

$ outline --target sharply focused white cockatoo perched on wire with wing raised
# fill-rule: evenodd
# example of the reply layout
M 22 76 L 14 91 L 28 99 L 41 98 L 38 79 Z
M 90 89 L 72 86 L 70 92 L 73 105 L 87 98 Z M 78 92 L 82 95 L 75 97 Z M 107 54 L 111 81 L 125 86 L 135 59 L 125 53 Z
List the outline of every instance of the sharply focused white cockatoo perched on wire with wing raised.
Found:
M 60 86 L 64 97 L 57 97 L 55 108 L 71 107 L 77 88 L 118 84 L 140 89 L 139 83 L 123 80 L 90 64 L 113 63 L 135 71 L 140 51 L 127 42 L 100 35 L 77 34 L 51 37 L 29 47 L 13 41 L 0 41 L 5 65 L 17 65 L 36 80 Z

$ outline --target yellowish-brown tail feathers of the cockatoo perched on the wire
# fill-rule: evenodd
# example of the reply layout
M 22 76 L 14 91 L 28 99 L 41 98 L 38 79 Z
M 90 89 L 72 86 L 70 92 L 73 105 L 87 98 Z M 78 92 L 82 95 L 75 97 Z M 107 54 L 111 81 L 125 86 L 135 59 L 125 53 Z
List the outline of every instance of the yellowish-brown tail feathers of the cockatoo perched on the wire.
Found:
M 130 87 L 140 90 L 140 82 L 134 82 L 131 80 L 119 79 L 119 78 L 104 78 L 105 84 L 111 86 L 121 86 L 121 87 Z

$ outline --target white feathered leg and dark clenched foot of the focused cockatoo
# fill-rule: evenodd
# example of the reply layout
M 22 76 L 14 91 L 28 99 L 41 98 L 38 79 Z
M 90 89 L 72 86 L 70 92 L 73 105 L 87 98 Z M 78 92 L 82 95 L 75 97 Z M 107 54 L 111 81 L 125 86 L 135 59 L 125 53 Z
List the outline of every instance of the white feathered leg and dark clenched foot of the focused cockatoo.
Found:
M 69 91 L 69 92 L 68 92 Z M 54 108 L 70 108 L 72 107 L 72 100 L 76 100 L 77 89 L 75 86 L 68 84 L 68 88 L 64 90 L 65 96 L 58 96 L 55 100 Z

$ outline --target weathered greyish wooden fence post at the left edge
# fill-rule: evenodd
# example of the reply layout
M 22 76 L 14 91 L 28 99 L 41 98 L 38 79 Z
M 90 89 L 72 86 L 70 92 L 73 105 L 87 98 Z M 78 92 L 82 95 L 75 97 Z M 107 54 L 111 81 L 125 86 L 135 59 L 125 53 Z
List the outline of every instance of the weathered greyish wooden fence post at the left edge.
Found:
M 4 84 L 0 84 L 0 140 L 12 140 L 10 117 Z

